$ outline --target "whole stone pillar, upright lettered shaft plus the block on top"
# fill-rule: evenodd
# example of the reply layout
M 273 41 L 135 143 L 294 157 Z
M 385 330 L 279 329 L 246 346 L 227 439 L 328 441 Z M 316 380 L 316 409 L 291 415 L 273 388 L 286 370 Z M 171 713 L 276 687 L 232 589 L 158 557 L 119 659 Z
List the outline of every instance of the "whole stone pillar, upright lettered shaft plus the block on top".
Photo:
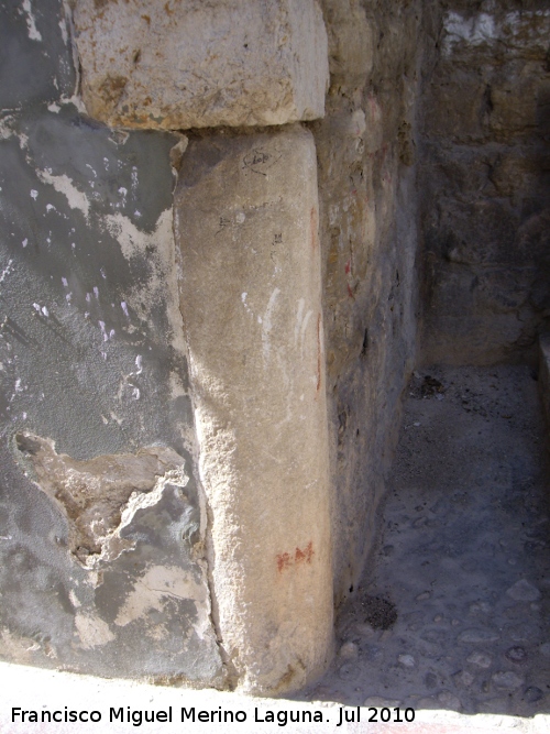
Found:
M 77 0 L 75 29 L 94 117 L 195 130 L 174 213 L 212 617 L 230 682 L 296 689 L 332 645 L 317 161 L 299 124 L 324 113 L 321 10 Z

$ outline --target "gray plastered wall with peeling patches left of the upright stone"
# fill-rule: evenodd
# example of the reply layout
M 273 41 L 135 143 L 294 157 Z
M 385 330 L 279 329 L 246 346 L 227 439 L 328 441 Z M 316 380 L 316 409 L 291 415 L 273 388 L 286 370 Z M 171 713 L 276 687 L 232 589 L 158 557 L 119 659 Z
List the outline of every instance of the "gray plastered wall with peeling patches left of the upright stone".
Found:
M 59 0 L 0 14 L 0 656 L 217 682 L 178 138 L 84 114 Z

